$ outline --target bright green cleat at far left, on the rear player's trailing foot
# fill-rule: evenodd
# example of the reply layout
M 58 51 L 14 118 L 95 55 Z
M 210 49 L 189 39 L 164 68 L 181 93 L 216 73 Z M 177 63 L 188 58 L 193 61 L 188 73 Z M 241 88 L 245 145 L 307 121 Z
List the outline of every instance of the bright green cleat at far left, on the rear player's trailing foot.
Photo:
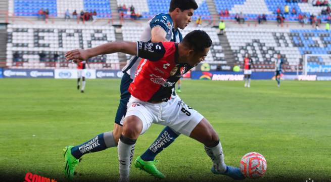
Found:
M 79 159 L 76 159 L 74 156 L 71 154 L 71 149 L 74 146 L 66 146 L 63 149 L 64 152 L 64 174 L 66 177 L 69 179 L 72 179 L 74 177 L 74 172 L 75 168 L 79 163 Z

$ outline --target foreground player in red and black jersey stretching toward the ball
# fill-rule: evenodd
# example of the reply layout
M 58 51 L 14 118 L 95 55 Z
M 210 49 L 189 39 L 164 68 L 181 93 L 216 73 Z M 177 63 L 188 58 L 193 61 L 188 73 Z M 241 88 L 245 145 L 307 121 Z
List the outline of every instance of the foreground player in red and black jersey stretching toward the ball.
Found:
M 109 42 L 88 50 L 69 51 L 67 60 L 79 62 L 88 58 L 122 52 L 142 58 L 128 91 L 131 97 L 118 143 L 119 181 L 129 181 L 134 146 L 140 134 L 152 123 L 170 126 L 205 146 L 214 174 L 244 179 L 238 167 L 227 166 L 218 134 L 209 121 L 187 106 L 179 97 L 171 97 L 175 83 L 188 70 L 206 58 L 212 40 L 202 30 L 188 33 L 181 43 L 175 42 Z

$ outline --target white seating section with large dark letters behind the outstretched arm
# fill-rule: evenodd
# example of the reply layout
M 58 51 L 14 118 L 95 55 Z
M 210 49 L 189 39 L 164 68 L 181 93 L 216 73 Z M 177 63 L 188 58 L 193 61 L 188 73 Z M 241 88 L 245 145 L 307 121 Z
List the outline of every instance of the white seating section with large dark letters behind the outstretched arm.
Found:
M 7 66 L 12 68 L 54 68 L 76 65 L 65 61 L 72 49 L 96 47 L 115 40 L 109 26 L 9 25 Z M 104 55 L 89 60 L 91 68 L 119 69 L 118 55 Z

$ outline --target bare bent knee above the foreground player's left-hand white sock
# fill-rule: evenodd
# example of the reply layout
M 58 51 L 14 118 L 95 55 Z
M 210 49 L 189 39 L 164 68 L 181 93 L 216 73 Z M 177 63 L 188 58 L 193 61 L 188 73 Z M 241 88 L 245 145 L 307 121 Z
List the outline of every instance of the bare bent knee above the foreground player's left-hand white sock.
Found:
M 137 139 L 141 130 L 143 129 L 143 123 L 136 116 L 128 116 L 124 120 L 122 134 L 130 139 Z

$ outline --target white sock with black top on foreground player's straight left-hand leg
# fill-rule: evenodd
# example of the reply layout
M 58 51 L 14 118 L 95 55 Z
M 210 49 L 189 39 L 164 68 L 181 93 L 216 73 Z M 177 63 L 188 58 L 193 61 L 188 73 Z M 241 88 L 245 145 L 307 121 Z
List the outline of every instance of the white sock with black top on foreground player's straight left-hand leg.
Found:
M 135 141 L 121 135 L 118 141 L 117 153 L 119 160 L 120 182 L 129 181 L 130 166 L 133 160 Z

